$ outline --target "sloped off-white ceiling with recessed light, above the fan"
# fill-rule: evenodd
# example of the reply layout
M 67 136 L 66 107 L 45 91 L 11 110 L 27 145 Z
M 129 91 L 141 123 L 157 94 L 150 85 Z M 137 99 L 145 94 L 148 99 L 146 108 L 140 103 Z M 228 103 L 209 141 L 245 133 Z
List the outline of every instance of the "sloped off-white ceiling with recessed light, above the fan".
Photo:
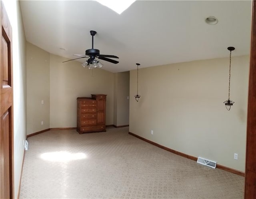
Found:
M 110 72 L 134 70 L 136 63 L 144 68 L 228 57 L 228 46 L 236 48 L 232 56 L 249 54 L 251 4 L 137 0 L 119 15 L 96 1 L 20 1 L 28 42 L 74 59 L 92 47 L 90 30 L 95 30 L 94 48 L 119 57 L 118 64 L 101 61 Z M 218 24 L 206 24 L 208 16 Z

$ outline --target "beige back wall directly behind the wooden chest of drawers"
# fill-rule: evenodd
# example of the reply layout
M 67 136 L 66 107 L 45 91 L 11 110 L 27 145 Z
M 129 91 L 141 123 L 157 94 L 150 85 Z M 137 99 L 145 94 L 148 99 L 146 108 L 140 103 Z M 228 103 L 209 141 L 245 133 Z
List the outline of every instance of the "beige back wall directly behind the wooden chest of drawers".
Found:
M 114 74 L 50 55 L 50 127 L 76 127 L 78 97 L 106 94 L 106 125 L 113 124 Z M 93 72 L 93 76 L 92 76 Z

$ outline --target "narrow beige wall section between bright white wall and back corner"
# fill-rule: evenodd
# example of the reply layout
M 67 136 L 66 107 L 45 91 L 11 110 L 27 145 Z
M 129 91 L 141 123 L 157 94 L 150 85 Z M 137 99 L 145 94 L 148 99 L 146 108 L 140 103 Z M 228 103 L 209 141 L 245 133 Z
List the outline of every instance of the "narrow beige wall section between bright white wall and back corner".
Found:
M 31 134 L 50 128 L 50 54 L 29 42 L 26 50 L 27 134 Z

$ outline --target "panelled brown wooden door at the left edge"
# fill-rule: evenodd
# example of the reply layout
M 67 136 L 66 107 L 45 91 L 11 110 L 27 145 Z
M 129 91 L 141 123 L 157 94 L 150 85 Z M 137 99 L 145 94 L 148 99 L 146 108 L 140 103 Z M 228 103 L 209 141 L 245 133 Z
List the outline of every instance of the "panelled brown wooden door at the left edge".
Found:
M 13 198 L 12 28 L 2 1 L 0 6 L 0 198 Z

